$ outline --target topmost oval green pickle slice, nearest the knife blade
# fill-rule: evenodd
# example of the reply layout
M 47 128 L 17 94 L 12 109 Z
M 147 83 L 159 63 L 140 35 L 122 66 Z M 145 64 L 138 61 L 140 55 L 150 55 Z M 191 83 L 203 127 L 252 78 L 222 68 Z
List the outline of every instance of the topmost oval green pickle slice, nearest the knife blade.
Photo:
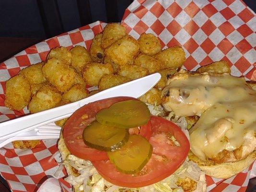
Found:
M 115 103 L 110 108 L 100 110 L 96 120 L 104 125 L 120 128 L 133 128 L 146 124 L 150 119 L 150 111 L 145 103 L 128 100 Z

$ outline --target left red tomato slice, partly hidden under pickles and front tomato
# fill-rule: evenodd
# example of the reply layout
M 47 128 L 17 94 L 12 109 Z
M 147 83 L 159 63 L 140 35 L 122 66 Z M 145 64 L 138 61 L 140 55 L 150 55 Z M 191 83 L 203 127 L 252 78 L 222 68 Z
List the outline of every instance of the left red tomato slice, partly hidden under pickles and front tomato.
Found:
M 106 152 L 99 151 L 88 147 L 83 139 L 83 131 L 85 127 L 95 120 L 95 116 L 103 108 L 109 108 L 117 102 L 136 99 L 133 97 L 112 97 L 89 103 L 82 108 L 76 110 L 73 115 L 67 120 L 63 128 L 63 138 L 68 150 L 74 156 L 83 158 L 90 161 L 107 160 L 109 157 Z M 141 126 L 140 134 L 149 139 L 151 136 L 151 125 L 148 122 L 146 125 Z

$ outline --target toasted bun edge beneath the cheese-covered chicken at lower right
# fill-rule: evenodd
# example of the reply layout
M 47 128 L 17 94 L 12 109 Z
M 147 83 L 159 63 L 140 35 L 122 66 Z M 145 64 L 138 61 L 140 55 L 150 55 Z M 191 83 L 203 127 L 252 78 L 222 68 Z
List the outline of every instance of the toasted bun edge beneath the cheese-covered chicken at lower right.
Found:
M 228 179 L 245 168 L 249 167 L 256 159 L 256 150 L 254 150 L 249 156 L 245 159 L 242 159 L 237 162 L 221 163 L 214 164 L 210 162 L 205 162 L 195 156 L 192 152 L 188 155 L 189 160 L 194 161 L 198 166 L 206 173 L 206 175 L 219 178 L 219 179 Z

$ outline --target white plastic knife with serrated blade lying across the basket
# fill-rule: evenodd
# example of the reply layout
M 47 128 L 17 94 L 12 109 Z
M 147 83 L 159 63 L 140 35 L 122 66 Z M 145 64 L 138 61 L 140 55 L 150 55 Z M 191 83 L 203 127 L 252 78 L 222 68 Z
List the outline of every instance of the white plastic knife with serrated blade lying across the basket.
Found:
M 110 89 L 101 91 L 93 96 L 89 96 L 80 101 L 70 103 L 57 108 L 51 108 L 35 114 L 8 120 L 0 123 L 0 140 L 10 138 L 18 133 L 26 132 L 46 125 L 56 120 L 70 117 L 75 110 L 82 106 L 100 100 L 115 96 L 131 96 L 138 98 L 144 95 L 160 80 L 161 75 L 154 73 L 134 81 L 121 84 Z

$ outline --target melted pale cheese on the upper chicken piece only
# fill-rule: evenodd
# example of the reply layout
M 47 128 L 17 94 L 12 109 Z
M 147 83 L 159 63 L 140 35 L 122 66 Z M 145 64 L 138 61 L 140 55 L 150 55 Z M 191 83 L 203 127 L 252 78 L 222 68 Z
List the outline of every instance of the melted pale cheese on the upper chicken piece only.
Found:
M 223 76 L 187 76 L 185 79 L 173 78 L 162 91 L 168 96 L 163 107 L 177 116 L 200 116 L 216 103 L 243 101 L 256 96 L 244 78 Z

